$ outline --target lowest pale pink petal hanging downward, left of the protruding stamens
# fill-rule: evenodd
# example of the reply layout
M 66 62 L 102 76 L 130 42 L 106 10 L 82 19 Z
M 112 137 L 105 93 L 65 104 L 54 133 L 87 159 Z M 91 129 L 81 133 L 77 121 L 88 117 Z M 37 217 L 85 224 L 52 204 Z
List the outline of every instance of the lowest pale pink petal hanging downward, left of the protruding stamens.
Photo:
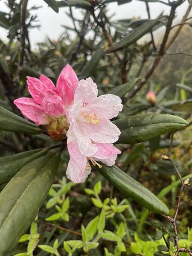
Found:
M 70 138 L 67 139 L 67 148 L 70 154 L 66 172 L 67 178 L 75 183 L 84 182 L 91 172 L 91 167 L 86 156 L 81 154 L 77 142 L 72 141 L 68 143 L 68 140 L 70 140 Z

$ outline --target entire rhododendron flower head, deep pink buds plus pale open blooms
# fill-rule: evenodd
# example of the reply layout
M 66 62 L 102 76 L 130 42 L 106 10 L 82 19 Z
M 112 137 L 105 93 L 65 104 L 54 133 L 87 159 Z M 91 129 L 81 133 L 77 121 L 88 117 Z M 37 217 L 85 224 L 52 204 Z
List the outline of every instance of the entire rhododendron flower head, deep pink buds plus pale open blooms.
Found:
M 122 111 L 121 99 L 112 94 L 98 97 L 92 79 L 78 82 L 70 65 L 61 71 L 56 87 L 46 76 L 28 77 L 32 98 L 14 101 L 23 115 L 37 125 L 46 125 L 54 140 L 63 140 L 67 132 L 70 160 L 67 177 L 73 182 L 84 182 L 92 163 L 108 166 L 115 163 L 121 151 L 113 146 L 119 138 L 119 128 L 110 119 Z M 67 131 L 68 130 L 68 131 Z

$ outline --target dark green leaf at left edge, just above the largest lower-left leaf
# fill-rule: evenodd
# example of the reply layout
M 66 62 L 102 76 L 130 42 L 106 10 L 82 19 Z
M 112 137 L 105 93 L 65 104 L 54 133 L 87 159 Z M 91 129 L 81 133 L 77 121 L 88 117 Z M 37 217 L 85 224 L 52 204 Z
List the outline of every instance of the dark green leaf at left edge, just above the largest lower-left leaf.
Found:
M 0 184 L 7 183 L 23 166 L 47 152 L 47 149 L 35 149 L 9 157 L 0 157 Z

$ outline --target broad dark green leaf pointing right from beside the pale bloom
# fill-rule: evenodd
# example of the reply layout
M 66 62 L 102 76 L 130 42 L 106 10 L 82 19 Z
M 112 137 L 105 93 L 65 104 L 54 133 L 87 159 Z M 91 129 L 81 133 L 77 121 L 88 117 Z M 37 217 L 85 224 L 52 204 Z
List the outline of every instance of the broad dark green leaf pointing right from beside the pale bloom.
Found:
M 143 114 L 128 116 L 113 122 L 121 134 L 117 143 L 140 143 L 151 140 L 168 131 L 185 128 L 188 122 L 181 117 L 167 114 Z

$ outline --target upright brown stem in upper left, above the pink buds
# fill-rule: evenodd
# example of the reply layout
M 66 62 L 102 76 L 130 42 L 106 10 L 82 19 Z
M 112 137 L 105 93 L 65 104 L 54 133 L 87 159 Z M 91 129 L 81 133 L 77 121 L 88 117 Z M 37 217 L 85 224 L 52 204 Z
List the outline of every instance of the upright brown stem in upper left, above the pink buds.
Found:
M 24 54 L 25 54 L 25 34 L 26 34 L 26 8 L 27 8 L 28 0 L 23 0 L 22 8 L 21 8 L 21 18 L 20 18 L 20 54 L 19 54 L 19 63 L 17 67 L 17 76 L 16 81 L 19 82 L 20 79 L 20 71 L 23 67 L 23 60 L 24 60 Z

